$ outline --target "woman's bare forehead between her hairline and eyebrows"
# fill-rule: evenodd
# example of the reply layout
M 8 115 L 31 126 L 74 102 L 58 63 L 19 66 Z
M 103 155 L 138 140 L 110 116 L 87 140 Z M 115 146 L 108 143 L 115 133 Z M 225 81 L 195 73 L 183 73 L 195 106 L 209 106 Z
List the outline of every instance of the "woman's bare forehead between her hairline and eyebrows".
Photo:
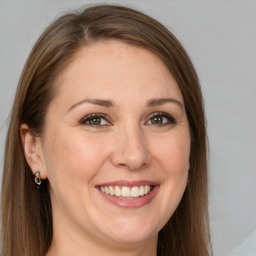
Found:
M 123 42 L 82 48 L 61 77 L 60 95 L 68 95 L 66 101 L 72 101 L 73 96 L 82 99 L 102 95 L 134 100 L 139 96 L 142 100 L 149 94 L 174 94 L 183 101 L 175 79 L 156 54 Z

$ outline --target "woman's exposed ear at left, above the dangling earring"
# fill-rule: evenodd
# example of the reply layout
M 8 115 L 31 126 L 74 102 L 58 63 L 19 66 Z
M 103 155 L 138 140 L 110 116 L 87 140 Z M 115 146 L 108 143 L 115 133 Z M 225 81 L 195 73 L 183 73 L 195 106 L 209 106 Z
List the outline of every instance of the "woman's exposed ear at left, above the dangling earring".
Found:
M 25 123 L 20 126 L 20 136 L 24 155 L 32 173 L 39 170 L 41 178 L 47 178 L 40 137 L 33 136 Z

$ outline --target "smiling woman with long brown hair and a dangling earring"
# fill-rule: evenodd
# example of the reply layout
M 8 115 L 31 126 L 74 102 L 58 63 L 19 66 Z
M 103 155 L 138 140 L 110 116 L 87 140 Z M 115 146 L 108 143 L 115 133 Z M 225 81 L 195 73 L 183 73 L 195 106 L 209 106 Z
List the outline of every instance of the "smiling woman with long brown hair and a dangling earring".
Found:
M 95 5 L 24 66 L 6 138 L 3 255 L 210 255 L 204 112 L 177 39 Z

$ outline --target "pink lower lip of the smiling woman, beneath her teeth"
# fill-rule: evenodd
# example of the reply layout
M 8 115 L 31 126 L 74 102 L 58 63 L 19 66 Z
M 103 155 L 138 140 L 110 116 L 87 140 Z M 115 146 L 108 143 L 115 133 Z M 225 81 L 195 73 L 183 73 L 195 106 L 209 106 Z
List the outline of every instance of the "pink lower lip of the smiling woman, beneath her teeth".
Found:
M 101 196 L 107 201 L 109 201 L 110 203 L 121 208 L 133 209 L 133 208 L 140 208 L 146 205 L 147 203 L 149 203 L 153 199 L 158 188 L 159 188 L 158 185 L 153 186 L 153 189 L 150 191 L 150 193 L 139 196 L 138 198 L 134 198 L 134 199 L 122 199 L 122 198 L 118 198 L 115 195 L 109 195 L 109 194 L 103 193 L 99 190 L 99 188 L 97 190 L 99 191 Z

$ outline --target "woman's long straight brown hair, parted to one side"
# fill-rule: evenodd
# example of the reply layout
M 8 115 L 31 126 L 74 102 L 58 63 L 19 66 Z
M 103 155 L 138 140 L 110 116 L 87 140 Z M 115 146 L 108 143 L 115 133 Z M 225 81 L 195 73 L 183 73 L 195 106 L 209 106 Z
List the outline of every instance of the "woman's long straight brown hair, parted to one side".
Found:
M 157 254 L 212 254 L 207 209 L 207 140 L 203 99 L 184 48 L 155 19 L 120 5 L 91 5 L 63 14 L 35 43 L 17 87 L 5 141 L 1 191 L 4 256 L 42 256 L 52 239 L 47 180 L 36 188 L 24 158 L 20 125 L 41 136 L 48 104 L 61 86 L 58 78 L 82 47 L 107 40 L 137 45 L 159 56 L 184 98 L 191 134 L 189 183 L 174 214 L 159 231 Z

